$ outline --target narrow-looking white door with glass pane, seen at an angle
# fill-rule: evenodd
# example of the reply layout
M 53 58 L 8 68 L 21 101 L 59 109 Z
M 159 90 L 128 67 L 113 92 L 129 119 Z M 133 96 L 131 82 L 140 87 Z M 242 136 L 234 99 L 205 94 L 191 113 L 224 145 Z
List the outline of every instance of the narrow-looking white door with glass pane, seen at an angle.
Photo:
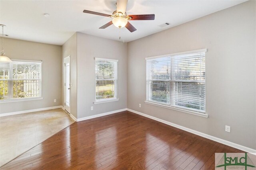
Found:
M 70 56 L 64 59 L 65 62 L 65 110 L 70 113 Z

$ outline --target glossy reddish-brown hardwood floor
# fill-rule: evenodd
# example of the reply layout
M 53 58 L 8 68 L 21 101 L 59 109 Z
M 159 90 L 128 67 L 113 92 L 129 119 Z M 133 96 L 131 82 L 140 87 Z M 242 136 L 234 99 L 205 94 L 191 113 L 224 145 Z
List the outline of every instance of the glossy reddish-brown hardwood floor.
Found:
M 215 152 L 243 152 L 129 111 L 75 122 L 4 169 L 214 169 Z

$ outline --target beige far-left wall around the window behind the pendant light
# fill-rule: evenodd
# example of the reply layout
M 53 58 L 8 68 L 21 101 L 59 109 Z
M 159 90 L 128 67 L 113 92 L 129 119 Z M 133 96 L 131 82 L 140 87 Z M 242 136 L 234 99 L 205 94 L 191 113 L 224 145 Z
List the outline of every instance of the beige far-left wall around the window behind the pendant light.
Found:
M 61 46 L 17 39 L 4 39 L 6 56 L 10 59 L 37 60 L 42 63 L 42 100 L 0 104 L 0 113 L 60 106 Z M 56 99 L 56 102 L 54 102 Z

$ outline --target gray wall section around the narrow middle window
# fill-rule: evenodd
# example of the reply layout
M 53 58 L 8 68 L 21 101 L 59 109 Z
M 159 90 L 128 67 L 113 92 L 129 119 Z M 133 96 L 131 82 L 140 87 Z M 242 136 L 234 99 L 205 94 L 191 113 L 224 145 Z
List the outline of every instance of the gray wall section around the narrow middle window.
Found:
M 77 112 L 78 118 L 126 108 L 126 43 L 77 33 Z M 95 101 L 94 57 L 118 59 L 119 101 L 93 104 Z M 90 110 L 93 106 L 94 110 Z

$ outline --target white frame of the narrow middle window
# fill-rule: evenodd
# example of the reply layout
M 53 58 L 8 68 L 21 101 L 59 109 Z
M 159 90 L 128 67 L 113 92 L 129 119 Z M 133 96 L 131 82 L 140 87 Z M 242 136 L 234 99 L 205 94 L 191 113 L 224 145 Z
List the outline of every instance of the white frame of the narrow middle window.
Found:
M 118 60 L 116 59 L 104 59 L 104 58 L 97 58 L 95 57 L 95 63 L 94 63 L 94 71 L 95 71 L 95 101 L 94 104 L 101 104 L 101 103 L 106 103 L 106 102 L 115 102 L 118 101 Z M 110 62 L 116 62 L 116 78 L 112 78 L 111 80 L 114 81 L 115 88 L 114 88 L 114 97 L 113 98 L 104 98 L 104 99 L 98 99 L 97 100 L 97 94 L 96 94 L 96 81 L 101 80 L 96 78 L 96 61 L 110 61 Z M 104 80 L 104 79 L 102 79 Z

